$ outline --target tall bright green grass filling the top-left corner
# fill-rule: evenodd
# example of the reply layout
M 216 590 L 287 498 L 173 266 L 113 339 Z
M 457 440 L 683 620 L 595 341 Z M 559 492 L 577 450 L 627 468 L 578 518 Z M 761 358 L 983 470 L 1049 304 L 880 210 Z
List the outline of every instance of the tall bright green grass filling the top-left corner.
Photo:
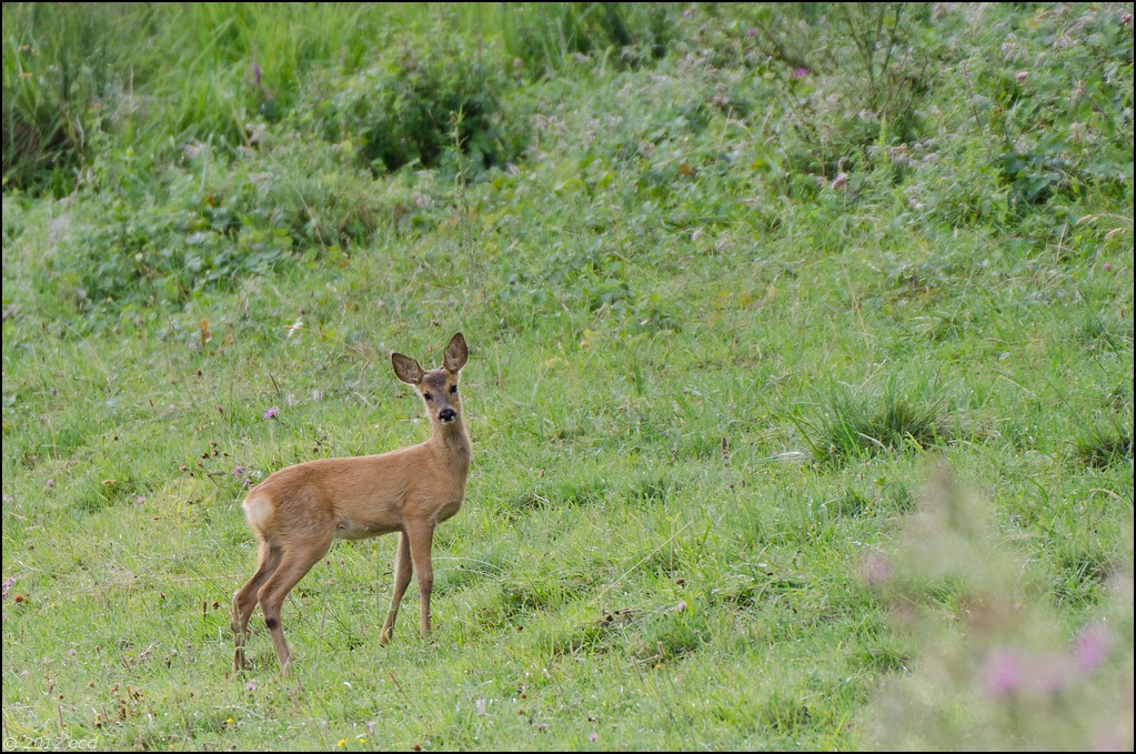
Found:
M 470 26 L 490 24 L 473 17 Z M 314 72 L 356 72 L 408 30 L 437 33 L 426 3 L 3 6 L 5 187 L 57 198 L 91 140 L 175 159 L 193 141 L 235 151 L 250 122 L 296 111 Z M 454 30 L 446 25 L 442 33 Z M 442 116 L 443 119 L 445 115 Z

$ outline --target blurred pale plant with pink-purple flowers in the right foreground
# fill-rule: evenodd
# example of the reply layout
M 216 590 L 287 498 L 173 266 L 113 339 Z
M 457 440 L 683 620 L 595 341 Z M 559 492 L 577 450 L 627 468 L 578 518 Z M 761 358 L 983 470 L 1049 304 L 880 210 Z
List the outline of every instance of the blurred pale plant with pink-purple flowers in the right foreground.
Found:
M 941 469 L 894 558 L 866 560 L 862 576 L 911 652 L 907 672 L 871 701 L 864 744 L 1131 751 L 1131 551 L 1106 597 L 1069 631 L 996 533 L 985 503 Z

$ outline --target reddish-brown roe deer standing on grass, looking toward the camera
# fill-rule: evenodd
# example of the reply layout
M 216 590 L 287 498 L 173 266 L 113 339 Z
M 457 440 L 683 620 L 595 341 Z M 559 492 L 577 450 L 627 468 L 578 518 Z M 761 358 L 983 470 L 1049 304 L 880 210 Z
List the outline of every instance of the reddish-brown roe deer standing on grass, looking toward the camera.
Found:
M 434 585 L 431 539 L 434 527 L 458 512 L 466 494 L 470 443 L 461 418 L 458 372 L 469 351 L 461 333 L 424 370 L 401 353 L 391 354 L 394 374 L 414 385 L 426 404 L 431 436 L 425 443 L 381 455 L 320 459 L 276 471 L 249 491 L 244 514 L 260 542 L 257 572 L 233 598 L 233 668 L 248 668 L 244 639 L 257 603 L 265 613 L 282 672 L 291 652 L 281 628 L 281 603 L 339 537 L 364 539 L 399 533 L 394 594 L 379 634 L 394 630 L 399 602 L 418 571 L 421 634 L 429 638 L 429 595 Z

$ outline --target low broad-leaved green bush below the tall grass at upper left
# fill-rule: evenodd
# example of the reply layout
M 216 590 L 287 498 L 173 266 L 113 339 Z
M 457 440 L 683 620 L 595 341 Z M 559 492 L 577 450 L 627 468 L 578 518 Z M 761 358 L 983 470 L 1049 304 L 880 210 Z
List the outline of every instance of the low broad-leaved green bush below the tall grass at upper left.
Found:
M 287 133 L 237 160 L 191 144 L 179 166 L 164 168 L 132 150 L 107 150 L 68 216 L 70 233 L 41 262 L 45 293 L 81 309 L 106 300 L 176 303 L 298 254 L 345 252 L 398 215 L 389 192 L 345 161 L 333 145 Z

